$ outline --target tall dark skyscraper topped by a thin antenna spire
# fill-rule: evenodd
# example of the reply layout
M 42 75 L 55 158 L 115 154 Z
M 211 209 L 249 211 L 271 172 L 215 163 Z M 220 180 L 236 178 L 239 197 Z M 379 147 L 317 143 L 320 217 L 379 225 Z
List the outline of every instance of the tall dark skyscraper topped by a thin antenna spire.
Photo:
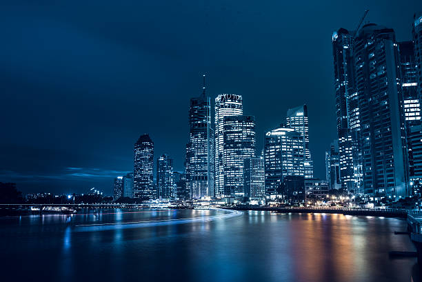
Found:
M 214 130 L 211 126 L 211 99 L 203 92 L 190 99 L 189 142 L 186 145 L 186 179 L 192 198 L 214 197 Z

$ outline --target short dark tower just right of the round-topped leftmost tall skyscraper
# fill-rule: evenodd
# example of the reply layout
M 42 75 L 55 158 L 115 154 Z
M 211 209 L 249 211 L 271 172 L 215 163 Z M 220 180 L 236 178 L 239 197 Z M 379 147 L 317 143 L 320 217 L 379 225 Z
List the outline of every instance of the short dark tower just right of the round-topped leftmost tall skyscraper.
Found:
M 162 154 L 157 159 L 157 197 L 174 197 L 173 159 Z

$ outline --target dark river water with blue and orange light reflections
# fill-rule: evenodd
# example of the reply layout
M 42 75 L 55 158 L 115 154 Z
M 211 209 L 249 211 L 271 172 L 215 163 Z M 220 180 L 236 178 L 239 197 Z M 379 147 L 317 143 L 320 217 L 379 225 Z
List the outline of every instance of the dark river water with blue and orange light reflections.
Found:
M 217 210 L 0 218 L 1 280 L 412 281 L 402 219 Z M 116 224 L 117 223 L 117 224 Z M 123 223 L 123 224 L 119 224 Z

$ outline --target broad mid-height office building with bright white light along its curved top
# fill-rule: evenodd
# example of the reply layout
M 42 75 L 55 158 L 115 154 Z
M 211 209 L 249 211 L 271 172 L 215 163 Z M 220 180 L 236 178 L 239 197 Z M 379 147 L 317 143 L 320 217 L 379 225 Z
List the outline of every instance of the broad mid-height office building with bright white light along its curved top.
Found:
M 293 128 L 280 128 L 265 134 L 265 192 L 277 194 L 286 176 L 305 175 L 303 135 Z

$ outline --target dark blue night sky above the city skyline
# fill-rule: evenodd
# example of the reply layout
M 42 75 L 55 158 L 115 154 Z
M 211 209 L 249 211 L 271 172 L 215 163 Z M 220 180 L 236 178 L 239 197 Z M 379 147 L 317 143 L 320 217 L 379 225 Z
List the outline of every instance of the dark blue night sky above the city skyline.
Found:
M 189 99 L 241 94 L 263 134 L 306 103 L 315 176 L 336 138 L 331 35 L 365 21 L 411 39 L 419 0 L 19 1 L 0 8 L 0 181 L 112 194 L 149 133 L 183 171 Z M 155 165 L 154 165 L 155 166 Z

